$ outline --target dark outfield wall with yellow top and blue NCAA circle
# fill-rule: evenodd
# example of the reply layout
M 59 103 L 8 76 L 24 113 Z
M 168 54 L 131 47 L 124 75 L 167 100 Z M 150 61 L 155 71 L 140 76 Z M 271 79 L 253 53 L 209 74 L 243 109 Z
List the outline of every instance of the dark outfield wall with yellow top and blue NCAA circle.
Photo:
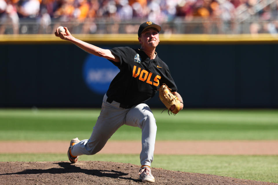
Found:
M 76 37 L 105 49 L 139 47 L 136 35 Z M 276 38 L 194 37 L 161 36 L 156 49 L 185 107 L 278 108 Z M 0 107 L 100 107 L 117 73 L 108 60 L 53 36 L 1 36 L 0 56 Z M 148 104 L 163 106 L 157 96 Z

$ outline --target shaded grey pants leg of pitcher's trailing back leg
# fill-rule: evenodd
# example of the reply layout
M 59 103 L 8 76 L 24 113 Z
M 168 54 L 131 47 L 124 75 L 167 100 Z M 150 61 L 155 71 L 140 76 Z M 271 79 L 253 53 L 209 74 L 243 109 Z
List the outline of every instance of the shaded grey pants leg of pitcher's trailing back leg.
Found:
M 107 96 L 103 98 L 98 120 L 93 128 L 92 135 L 89 139 L 85 139 L 72 147 L 73 156 L 94 155 L 99 152 L 107 140 L 123 125 L 125 116 L 129 109 L 119 108 L 119 103 L 106 102 Z

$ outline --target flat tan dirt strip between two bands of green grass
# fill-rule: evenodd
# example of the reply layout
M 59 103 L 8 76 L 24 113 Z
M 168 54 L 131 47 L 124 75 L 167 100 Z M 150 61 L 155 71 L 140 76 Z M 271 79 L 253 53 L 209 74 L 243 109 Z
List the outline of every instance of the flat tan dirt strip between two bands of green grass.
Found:
M 278 141 L 156 141 L 155 154 L 278 155 Z M 5 141 L 0 153 L 65 153 L 68 141 Z M 99 153 L 139 154 L 140 141 L 108 141 Z

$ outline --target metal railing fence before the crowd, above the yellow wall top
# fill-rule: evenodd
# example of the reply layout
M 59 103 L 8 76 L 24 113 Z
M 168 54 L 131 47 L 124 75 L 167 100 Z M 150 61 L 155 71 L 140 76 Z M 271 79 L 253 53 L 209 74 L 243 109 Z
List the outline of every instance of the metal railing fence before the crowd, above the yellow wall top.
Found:
M 65 26 L 72 34 L 136 34 L 145 20 L 111 21 L 86 19 L 85 21 L 43 18 L 23 18 L 18 22 L 1 21 L 0 34 L 53 34 L 56 27 Z M 190 21 L 176 17 L 161 21 L 164 34 L 257 34 L 278 32 L 278 17 L 263 20 L 252 16 L 245 20 L 223 21 L 221 18 L 193 18 Z

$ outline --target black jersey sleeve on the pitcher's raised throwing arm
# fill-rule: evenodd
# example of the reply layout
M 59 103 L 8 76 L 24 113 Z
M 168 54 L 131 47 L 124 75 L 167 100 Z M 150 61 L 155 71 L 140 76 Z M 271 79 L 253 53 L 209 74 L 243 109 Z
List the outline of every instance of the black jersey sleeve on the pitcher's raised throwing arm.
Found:
M 120 67 L 123 63 L 128 63 L 131 55 L 130 47 L 114 47 L 113 49 L 109 49 L 114 55 L 120 58 L 120 62 L 114 62 L 113 60 L 109 60 L 115 66 Z

